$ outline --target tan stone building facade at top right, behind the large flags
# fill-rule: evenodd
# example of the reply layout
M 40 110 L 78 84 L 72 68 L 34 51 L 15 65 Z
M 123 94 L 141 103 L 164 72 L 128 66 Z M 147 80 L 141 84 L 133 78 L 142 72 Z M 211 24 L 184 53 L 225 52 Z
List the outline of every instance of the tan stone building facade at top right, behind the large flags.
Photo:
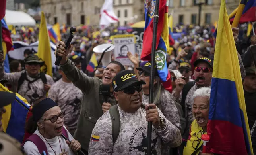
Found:
M 239 5 L 239 0 L 226 0 L 227 12 Z M 219 19 L 221 0 L 169 0 L 169 14 L 173 10 L 173 24 L 198 24 L 199 6 L 202 4 L 200 25 L 213 24 Z

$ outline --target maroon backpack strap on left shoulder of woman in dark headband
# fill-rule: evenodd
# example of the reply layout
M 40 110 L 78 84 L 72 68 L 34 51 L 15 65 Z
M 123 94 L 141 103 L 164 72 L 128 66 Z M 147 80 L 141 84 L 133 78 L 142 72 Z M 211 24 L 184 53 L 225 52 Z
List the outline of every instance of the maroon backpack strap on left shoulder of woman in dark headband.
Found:
M 43 151 L 45 151 L 45 153 L 48 155 L 48 151 L 47 151 L 45 142 L 37 134 L 32 134 L 29 138 L 27 138 L 25 140 L 25 142 L 27 142 L 27 141 L 34 143 L 35 146 L 37 146 L 37 149 L 40 154 L 42 154 Z M 21 145 L 24 146 L 25 142 Z

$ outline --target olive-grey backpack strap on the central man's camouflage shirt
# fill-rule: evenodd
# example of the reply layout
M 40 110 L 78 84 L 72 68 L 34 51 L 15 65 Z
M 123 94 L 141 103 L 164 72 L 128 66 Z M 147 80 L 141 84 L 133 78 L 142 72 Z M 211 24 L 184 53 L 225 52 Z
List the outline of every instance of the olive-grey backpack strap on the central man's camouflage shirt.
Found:
M 121 121 L 120 121 L 120 115 L 119 115 L 119 110 L 117 104 L 114 106 L 111 106 L 109 109 L 109 114 L 111 117 L 111 122 L 112 122 L 112 136 L 113 136 L 113 145 L 116 142 L 119 132 L 121 129 Z

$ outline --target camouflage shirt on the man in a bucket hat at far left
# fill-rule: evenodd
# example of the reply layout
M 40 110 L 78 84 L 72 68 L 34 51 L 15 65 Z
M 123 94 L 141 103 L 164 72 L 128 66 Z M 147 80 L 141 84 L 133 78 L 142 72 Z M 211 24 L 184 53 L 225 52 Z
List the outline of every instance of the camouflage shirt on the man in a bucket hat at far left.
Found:
M 12 85 L 13 87 L 12 91 L 14 91 L 15 93 L 17 92 L 17 89 L 18 89 L 17 87 L 18 87 L 19 78 L 21 77 L 21 74 L 23 72 L 26 72 L 26 71 L 23 70 L 21 72 L 5 73 L 3 64 L 0 64 L 0 79 L 6 79 Z M 51 76 L 45 74 L 45 77 L 47 79 L 47 84 L 49 85 L 54 84 L 54 81 Z M 27 80 L 33 81 L 33 82 L 29 82 Z M 36 100 L 46 97 L 46 93 L 47 93 L 44 90 L 44 83 L 42 79 L 38 78 L 36 81 L 34 80 L 35 78 L 30 77 L 27 74 L 27 79 L 25 79 L 25 81 L 21 84 L 19 88 L 19 92 L 17 92 L 21 96 L 26 98 L 27 102 L 31 105 L 33 105 L 33 103 Z

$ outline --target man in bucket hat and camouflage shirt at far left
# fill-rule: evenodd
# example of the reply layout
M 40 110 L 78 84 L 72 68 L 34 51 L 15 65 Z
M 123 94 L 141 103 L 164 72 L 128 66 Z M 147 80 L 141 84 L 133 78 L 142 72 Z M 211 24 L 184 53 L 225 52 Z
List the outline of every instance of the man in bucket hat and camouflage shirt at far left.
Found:
M 39 73 L 44 62 L 40 61 L 37 55 L 26 57 L 24 59 L 26 70 L 15 73 L 4 72 L 3 58 L 3 54 L 0 54 L 0 79 L 7 79 L 12 84 L 12 91 L 18 92 L 31 105 L 39 98 L 46 97 L 54 81 L 51 76 Z

